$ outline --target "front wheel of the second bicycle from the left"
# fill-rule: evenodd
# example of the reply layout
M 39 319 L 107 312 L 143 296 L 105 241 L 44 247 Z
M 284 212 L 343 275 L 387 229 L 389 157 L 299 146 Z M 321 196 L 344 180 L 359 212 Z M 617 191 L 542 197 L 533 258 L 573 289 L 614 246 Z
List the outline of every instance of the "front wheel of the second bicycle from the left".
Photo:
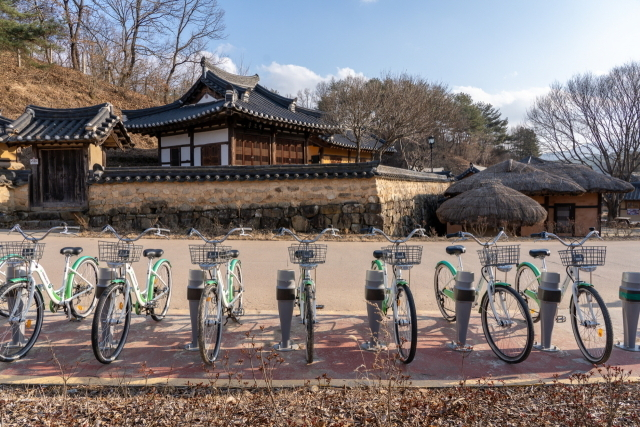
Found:
M 118 358 L 130 326 L 130 295 L 124 283 L 113 283 L 100 295 L 91 325 L 91 347 L 98 362 L 109 364 Z

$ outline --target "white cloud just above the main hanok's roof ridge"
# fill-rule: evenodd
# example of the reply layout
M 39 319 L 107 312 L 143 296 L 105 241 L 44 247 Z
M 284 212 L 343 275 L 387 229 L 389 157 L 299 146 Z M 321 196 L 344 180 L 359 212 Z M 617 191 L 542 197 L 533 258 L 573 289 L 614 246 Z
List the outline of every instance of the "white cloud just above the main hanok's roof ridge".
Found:
M 347 76 L 364 76 L 351 68 L 338 68 L 335 74 L 321 76 L 314 71 L 301 65 L 278 64 L 272 62 L 270 65 L 261 65 L 259 68 L 260 84 L 275 89 L 282 95 L 295 95 L 299 90 L 309 88 L 314 89 L 322 81 L 330 80 L 332 77 L 342 79 Z

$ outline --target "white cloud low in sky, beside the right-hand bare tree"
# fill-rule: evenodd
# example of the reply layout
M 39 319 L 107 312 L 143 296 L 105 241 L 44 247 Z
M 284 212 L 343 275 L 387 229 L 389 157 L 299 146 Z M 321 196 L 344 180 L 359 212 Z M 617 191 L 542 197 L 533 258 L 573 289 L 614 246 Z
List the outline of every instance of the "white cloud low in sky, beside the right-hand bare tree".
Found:
M 529 89 L 487 93 L 483 89 L 473 86 L 455 86 L 455 93 L 464 92 L 474 101 L 486 102 L 500 109 L 503 117 L 509 118 L 509 125 L 517 126 L 526 122 L 527 109 L 531 107 L 538 96 L 545 95 L 548 87 L 533 87 Z

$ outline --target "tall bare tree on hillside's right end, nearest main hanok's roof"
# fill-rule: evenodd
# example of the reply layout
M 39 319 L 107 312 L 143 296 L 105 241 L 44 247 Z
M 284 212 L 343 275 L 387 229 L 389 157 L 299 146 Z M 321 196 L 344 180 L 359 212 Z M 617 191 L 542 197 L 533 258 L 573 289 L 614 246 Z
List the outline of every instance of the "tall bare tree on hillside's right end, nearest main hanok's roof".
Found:
M 167 61 L 169 68 L 165 79 L 165 102 L 178 67 L 198 62 L 198 54 L 209 40 L 225 37 L 224 10 L 217 0 L 177 0 L 170 18 L 165 21 L 169 39 L 164 44 L 169 48 L 166 52 L 157 49 L 159 58 Z

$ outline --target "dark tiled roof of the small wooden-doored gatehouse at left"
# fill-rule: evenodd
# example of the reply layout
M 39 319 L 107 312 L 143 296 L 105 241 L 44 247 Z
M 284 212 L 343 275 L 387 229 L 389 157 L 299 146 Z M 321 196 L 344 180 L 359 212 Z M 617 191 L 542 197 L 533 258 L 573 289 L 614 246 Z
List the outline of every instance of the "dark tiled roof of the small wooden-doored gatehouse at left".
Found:
M 103 144 L 114 133 L 115 145 L 131 146 L 120 117 L 109 103 L 85 108 L 44 108 L 29 105 L 25 113 L 6 125 L 8 145 L 92 143 Z

